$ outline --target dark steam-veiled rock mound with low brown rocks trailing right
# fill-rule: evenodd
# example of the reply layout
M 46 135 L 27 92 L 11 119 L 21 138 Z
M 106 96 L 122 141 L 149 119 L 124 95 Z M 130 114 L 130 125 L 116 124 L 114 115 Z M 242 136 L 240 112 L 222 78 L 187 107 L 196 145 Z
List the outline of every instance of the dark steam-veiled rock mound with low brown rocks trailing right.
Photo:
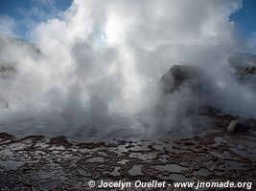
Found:
M 247 69 L 246 73 L 254 74 L 254 69 Z M 160 86 L 162 97 L 159 101 L 157 112 L 161 112 L 163 116 L 168 116 L 168 112 L 172 111 L 165 108 L 169 101 L 177 102 L 179 100 L 185 100 L 178 103 L 181 106 L 180 109 L 178 107 L 175 108 L 175 112 L 179 112 L 179 110 L 182 112 L 181 115 L 177 115 L 175 118 L 181 117 L 182 119 L 182 117 L 189 117 L 193 121 L 195 121 L 193 117 L 214 118 L 214 126 L 221 127 L 229 133 L 245 132 L 256 128 L 255 119 L 223 114 L 221 110 L 208 106 L 208 102 L 211 103 L 210 93 L 213 91 L 211 90 L 211 83 L 207 82 L 207 77 L 196 66 L 172 66 L 160 78 Z M 189 91 L 183 93 L 182 90 L 184 89 Z M 176 98 L 176 93 L 178 94 L 178 98 Z

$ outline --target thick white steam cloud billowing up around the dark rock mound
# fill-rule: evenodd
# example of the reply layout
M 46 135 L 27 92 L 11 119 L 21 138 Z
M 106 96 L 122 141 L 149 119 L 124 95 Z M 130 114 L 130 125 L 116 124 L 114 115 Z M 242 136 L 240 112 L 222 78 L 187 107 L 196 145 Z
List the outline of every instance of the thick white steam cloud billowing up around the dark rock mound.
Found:
M 56 113 L 81 126 L 139 115 L 152 128 L 161 123 L 168 129 L 180 121 L 189 126 L 186 105 L 208 102 L 256 117 L 255 92 L 239 85 L 227 66 L 238 46 L 229 16 L 241 6 L 222 0 L 75 0 L 30 32 L 36 48 L 1 36 L 1 66 L 15 68 L 0 83 L 1 100 L 9 104 L 1 116 Z M 184 88 L 165 97 L 168 115 L 157 117 L 159 78 L 174 64 L 197 65 L 212 81 L 213 94 L 198 100 Z

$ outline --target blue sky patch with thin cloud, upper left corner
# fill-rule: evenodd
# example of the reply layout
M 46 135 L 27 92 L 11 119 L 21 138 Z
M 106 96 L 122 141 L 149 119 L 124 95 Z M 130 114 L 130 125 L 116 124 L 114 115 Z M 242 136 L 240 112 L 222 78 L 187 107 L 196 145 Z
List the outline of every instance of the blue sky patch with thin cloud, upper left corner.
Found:
M 0 16 L 14 19 L 15 34 L 28 40 L 28 32 L 36 23 L 65 11 L 72 0 L 0 0 Z

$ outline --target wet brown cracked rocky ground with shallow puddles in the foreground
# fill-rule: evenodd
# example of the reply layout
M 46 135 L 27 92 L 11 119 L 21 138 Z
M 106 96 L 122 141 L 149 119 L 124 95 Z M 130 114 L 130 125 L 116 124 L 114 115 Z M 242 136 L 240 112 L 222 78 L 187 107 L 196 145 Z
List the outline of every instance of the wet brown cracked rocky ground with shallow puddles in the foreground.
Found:
M 213 109 L 200 115 L 211 117 L 218 128 L 192 138 L 87 143 L 64 137 L 14 138 L 1 133 L 0 190 L 91 190 L 88 180 L 255 184 L 255 128 L 229 132 L 224 127 L 236 117 Z

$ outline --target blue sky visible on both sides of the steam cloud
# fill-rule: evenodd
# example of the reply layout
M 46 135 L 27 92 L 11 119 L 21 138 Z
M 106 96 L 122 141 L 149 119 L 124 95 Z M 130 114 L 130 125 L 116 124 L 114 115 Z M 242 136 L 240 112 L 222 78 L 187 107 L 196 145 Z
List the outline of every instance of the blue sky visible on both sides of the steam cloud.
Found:
M 18 21 L 16 22 L 15 33 L 19 37 L 28 39 L 30 28 L 33 28 L 37 22 L 57 16 L 56 14 L 59 10 L 65 11 L 71 3 L 72 0 L 1 0 L 0 15 L 5 15 Z M 255 18 L 256 0 L 244 0 L 242 10 L 230 17 L 235 22 L 239 35 L 247 39 L 247 41 L 252 37 L 256 39 Z

